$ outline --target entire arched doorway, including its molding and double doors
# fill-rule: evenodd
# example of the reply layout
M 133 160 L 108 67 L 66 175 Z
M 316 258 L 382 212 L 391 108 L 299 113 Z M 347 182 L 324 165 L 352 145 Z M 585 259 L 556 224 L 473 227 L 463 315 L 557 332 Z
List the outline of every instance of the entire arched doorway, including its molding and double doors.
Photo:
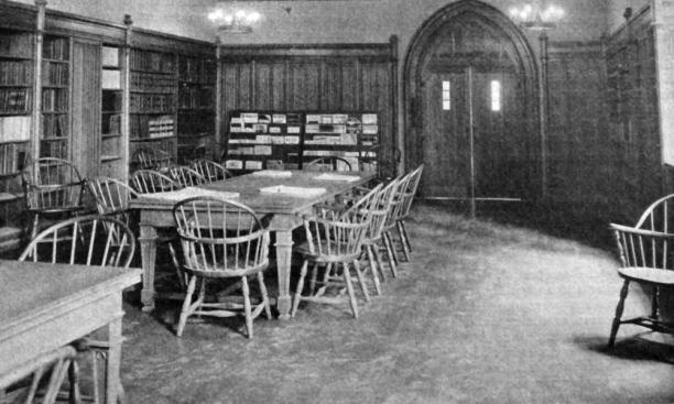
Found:
M 540 194 L 533 52 L 499 10 L 452 3 L 414 35 L 404 70 L 407 167 L 425 198 L 524 200 Z

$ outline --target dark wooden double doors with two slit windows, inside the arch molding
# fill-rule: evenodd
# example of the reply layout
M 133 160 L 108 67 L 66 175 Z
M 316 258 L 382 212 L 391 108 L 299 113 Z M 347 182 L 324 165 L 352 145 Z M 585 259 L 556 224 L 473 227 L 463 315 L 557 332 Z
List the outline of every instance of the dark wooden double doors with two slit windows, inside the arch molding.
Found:
M 457 21 L 428 46 L 420 81 L 422 110 L 414 119 L 421 119 L 422 195 L 533 197 L 536 100 L 512 42 L 489 25 Z

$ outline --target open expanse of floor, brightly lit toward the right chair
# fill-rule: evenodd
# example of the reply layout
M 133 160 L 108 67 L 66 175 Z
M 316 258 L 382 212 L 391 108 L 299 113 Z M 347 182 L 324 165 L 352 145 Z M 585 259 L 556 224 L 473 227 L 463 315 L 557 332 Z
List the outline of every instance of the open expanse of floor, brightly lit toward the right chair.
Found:
M 357 320 L 307 305 L 256 320 L 253 340 L 217 323 L 178 339 L 175 306 L 128 304 L 128 402 L 674 402 L 674 345 L 624 326 L 605 348 L 621 285 L 611 253 L 423 205 L 409 229 L 412 262 Z

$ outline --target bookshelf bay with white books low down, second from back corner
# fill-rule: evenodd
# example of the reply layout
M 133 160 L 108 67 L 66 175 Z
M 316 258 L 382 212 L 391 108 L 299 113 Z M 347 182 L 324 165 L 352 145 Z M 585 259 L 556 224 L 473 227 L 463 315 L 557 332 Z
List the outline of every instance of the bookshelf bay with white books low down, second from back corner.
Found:
M 129 66 L 130 153 L 160 149 L 175 156 L 177 66 L 170 52 L 131 50 Z

